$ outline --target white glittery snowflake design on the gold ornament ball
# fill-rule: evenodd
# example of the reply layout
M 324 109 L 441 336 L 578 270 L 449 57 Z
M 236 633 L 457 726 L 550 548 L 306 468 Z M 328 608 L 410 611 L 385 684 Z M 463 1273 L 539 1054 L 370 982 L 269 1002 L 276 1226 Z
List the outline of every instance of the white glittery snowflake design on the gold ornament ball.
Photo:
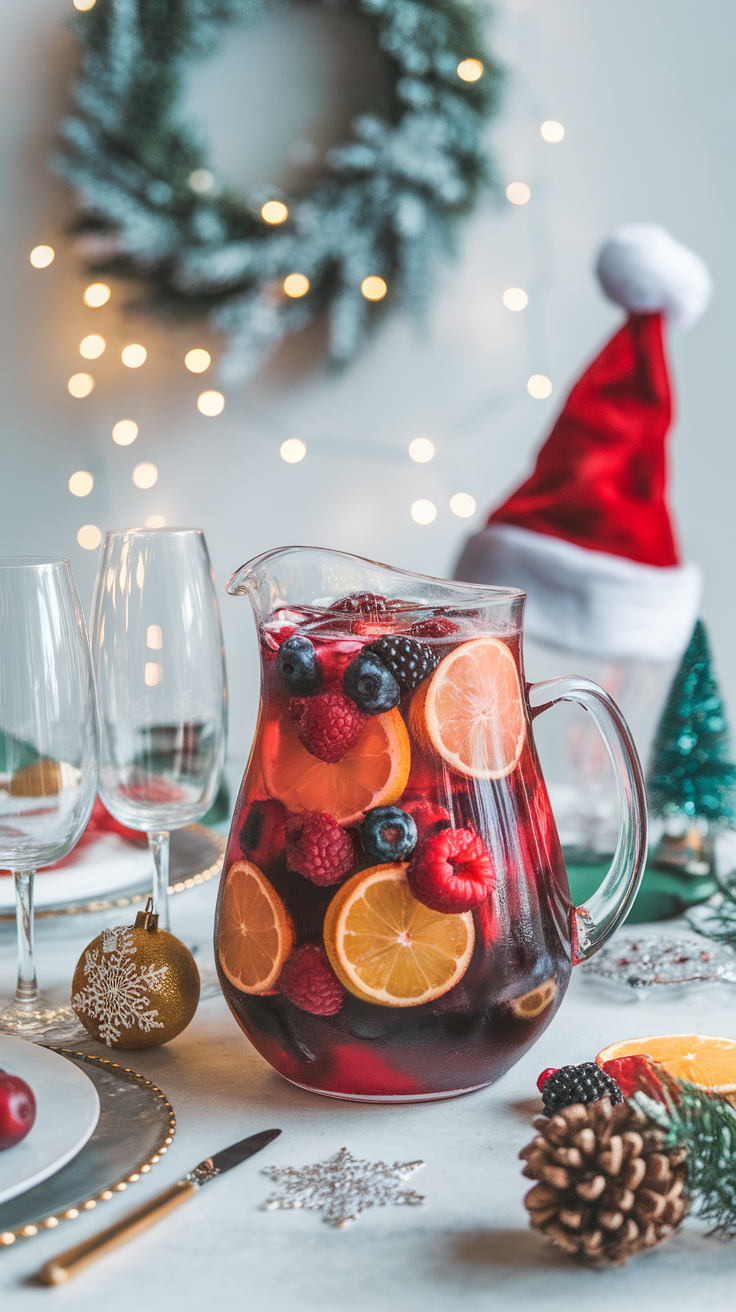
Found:
M 160 993 L 168 966 L 147 966 L 138 970 L 131 956 L 136 949 L 133 930 L 127 925 L 102 932 L 102 949 L 84 954 L 85 988 L 72 997 L 77 1012 L 100 1021 L 100 1038 L 112 1048 L 121 1030 L 163 1030 L 156 1021 L 157 1008 L 151 1008 L 148 992 Z

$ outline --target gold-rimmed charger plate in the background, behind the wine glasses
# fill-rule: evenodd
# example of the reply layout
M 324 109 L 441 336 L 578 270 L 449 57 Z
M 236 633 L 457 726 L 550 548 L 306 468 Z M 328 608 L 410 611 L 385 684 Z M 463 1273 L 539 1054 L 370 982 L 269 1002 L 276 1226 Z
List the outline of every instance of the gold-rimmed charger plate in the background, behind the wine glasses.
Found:
M 202 824 L 190 824 L 185 829 L 173 829 L 171 834 L 169 893 L 182 893 L 214 879 L 222 870 L 227 840 L 214 829 Z M 49 874 L 52 878 L 54 872 Z M 8 878 L 8 876 L 7 876 Z M 89 900 L 75 899 L 51 907 L 35 907 L 35 920 L 56 916 L 80 916 L 84 912 L 113 911 L 144 903 L 151 892 L 151 875 L 127 888 L 117 890 L 104 897 Z M 14 922 L 16 912 L 0 911 L 0 925 Z

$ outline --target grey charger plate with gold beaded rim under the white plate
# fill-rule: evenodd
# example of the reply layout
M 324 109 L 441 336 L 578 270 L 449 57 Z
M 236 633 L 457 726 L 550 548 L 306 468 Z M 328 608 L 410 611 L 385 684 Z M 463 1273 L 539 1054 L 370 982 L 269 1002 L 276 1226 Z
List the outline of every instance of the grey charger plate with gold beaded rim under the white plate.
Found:
M 100 1094 L 100 1120 L 62 1170 L 0 1206 L 0 1248 L 76 1220 L 122 1194 L 161 1160 L 176 1131 L 173 1107 L 151 1080 L 109 1057 L 54 1046 L 51 1051 L 84 1065 Z

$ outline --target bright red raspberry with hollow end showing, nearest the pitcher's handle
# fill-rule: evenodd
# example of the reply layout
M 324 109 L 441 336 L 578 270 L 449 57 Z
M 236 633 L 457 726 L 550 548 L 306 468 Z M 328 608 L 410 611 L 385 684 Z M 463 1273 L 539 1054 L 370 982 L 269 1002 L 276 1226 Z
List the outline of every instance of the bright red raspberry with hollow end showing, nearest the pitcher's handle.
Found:
M 430 911 L 475 911 L 493 890 L 493 862 L 474 829 L 442 829 L 417 848 L 407 871 L 417 901 Z

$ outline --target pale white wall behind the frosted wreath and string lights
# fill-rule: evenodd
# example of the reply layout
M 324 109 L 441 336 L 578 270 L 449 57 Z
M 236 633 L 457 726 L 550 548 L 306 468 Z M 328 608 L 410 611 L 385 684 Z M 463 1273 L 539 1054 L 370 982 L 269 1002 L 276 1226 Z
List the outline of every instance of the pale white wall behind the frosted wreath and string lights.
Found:
M 716 285 L 707 318 L 672 342 L 680 398 L 673 501 L 684 552 L 706 573 L 705 614 L 736 715 L 736 7 L 499 4 L 489 38 L 508 83 L 488 144 L 502 186 L 526 181 L 530 203 L 483 199 L 462 230 L 457 262 L 441 273 L 422 333 L 395 316 L 337 377 L 315 370 L 320 335 L 307 333 L 255 383 L 228 391 L 216 419 L 195 405 L 202 387 L 216 383 L 184 367 L 190 346 L 213 346 L 205 332 L 131 320 L 125 286 L 113 285 L 101 310 L 83 303 L 89 279 L 62 234 L 68 195 L 46 167 L 75 63 L 64 30 L 71 12 L 71 0 L 4 0 L 0 8 L 0 554 L 68 555 L 85 605 L 97 552 L 77 546 L 77 529 L 142 523 L 151 513 L 205 530 L 220 588 L 249 556 L 286 542 L 449 572 L 468 527 L 529 468 L 565 390 L 618 323 L 590 274 L 596 247 L 618 223 L 657 220 L 705 256 Z M 270 167 L 266 129 L 282 154 L 300 122 L 329 115 L 341 80 L 352 80 L 340 67 L 344 54 L 331 54 L 316 25 L 308 39 L 308 26 L 295 16 L 239 43 L 248 113 L 220 102 L 211 70 L 193 89 L 218 159 L 244 176 Z M 562 144 L 542 140 L 544 118 L 564 125 Z M 283 159 L 274 157 L 274 176 L 279 168 L 283 176 Z M 45 270 L 29 264 L 38 243 L 58 252 Z M 504 308 L 508 286 L 529 291 L 522 314 Z M 91 332 L 102 333 L 108 350 L 87 363 L 79 342 Z M 130 341 L 148 348 L 140 370 L 121 363 Z M 80 369 L 96 379 L 85 400 L 67 392 Z M 533 373 L 552 379 L 547 401 L 529 398 Z M 140 429 L 129 447 L 110 437 L 123 417 Z M 437 446 L 430 464 L 407 455 L 419 436 Z M 285 437 L 307 443 L 300 464 L 279 458 Z M 140 461 L 159 468 L 147 492 L 131 482 Z M 84 500 L 67 489 L 75 470 L 94 476 Z M 475 521 L 451 514 L 458 491 L 476 496 Z M 417 497 L 438 506 L 428 527 L 409 517 Z M 222 593 L 239 753 L 257 703 L 247 611 L 244 600 Z

